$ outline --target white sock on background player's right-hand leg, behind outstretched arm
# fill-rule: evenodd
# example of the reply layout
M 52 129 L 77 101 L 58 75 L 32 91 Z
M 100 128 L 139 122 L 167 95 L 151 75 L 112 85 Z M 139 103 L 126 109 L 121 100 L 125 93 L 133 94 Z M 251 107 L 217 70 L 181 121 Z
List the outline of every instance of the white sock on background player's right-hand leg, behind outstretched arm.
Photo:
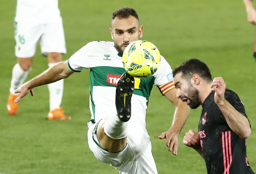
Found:
M 48 63 L 48 67 L 51 68 L 57 63 L 59 62 Z M 60 108 L 63 95 L 63 86 L 64 79 L 48 84 L 50 111 Z

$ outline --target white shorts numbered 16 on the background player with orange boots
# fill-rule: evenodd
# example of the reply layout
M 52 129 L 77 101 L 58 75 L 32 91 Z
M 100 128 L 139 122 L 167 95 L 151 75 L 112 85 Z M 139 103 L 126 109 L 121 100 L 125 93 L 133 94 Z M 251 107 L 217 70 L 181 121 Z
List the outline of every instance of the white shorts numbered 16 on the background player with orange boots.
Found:
M 14 39 L 15 56 L 18 58 L 33 57 L 39 41 L 44 55 L 67 53 L 62 18 L 47 24 L 15 23 Z

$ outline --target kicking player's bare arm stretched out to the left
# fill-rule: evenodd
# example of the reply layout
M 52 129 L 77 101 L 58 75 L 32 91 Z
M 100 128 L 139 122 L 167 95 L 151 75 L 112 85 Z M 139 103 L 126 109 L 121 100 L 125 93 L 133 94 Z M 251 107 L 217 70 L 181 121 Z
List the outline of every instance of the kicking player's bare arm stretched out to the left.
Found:
M 19 97 L 14 100 L 15 103 L 19 102 L 23 97 L 25 97 L 28 92 L 31 93 L 31 96 L 34 96 L 33 88 L 49 83 L 56 82 L 62 78 L 67 78 L 73 72 L 69 70 L 67 61 L 62 61 L 56 64 L 55 66 L 45 70 L 40 75 L 34 77 L 30 81 L 24 83 L 15 93 L 20 93 Z

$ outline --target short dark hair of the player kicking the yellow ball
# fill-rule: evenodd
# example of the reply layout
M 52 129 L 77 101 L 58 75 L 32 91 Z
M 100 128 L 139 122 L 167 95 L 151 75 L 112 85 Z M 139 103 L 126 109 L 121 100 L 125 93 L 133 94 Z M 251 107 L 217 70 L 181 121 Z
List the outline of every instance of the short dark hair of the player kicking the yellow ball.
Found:
M 114 20 L 116 17 L 125 19 L 129 16 L 135 17 L 140 22 L 137 12 L 133 8 L 129 7 L 122 7 L 120 9 L 115 10 L 112 14 L 112 20 Z

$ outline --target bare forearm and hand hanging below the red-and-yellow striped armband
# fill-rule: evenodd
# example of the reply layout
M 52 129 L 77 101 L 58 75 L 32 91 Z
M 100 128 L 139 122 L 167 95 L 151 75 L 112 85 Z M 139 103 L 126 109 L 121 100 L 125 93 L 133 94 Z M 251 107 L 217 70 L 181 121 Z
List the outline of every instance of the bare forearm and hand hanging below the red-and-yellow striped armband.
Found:
M 163 132 L 160 136 L 158 136 L 158 138 L 166 138 L 166 146 L 169 147 L 169 151 L 173 149 L 172 154 L 177 155 L 177 149 L 179 144 L 178 136 L 183 126 L 185 125 L 190 110 L 186 102 L 182 102 L 181 99 L 178 99 L 176 97 L 175 88 L 168 91 L 165 96 L 175 106 L 175 112 L 173 115 L 171 128 L 167 132 Z

